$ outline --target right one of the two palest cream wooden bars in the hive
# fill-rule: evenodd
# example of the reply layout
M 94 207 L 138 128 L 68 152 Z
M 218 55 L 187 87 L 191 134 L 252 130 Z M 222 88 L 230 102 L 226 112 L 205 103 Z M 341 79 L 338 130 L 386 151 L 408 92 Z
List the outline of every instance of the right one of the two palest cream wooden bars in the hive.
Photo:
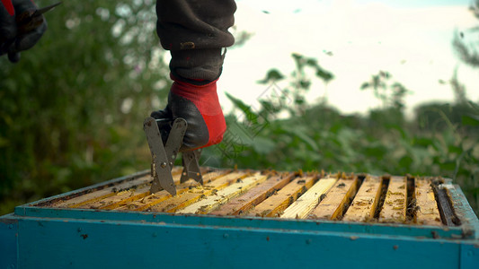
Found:
M 301 195 L 297 201 L 288 206 L 281 215 L 285 219 L 304 219 L 319 204 L 319 199 L 327 193 L 337 178 L 321 178 L 313 187 L 308 189 L 304 195 Z

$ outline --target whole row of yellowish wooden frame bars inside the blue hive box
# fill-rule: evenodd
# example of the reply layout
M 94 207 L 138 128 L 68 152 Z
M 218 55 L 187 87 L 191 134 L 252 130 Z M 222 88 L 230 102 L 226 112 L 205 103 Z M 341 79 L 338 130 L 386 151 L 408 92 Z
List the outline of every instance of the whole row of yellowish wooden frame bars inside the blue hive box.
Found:
M 174 196 L 165 190 L 150 194 L 148 175 L 35 206 L 443 225 L 429 178 L 201 169 L 204 186 L 194 180 L 180 184 L 182 168 L 175 167 Z

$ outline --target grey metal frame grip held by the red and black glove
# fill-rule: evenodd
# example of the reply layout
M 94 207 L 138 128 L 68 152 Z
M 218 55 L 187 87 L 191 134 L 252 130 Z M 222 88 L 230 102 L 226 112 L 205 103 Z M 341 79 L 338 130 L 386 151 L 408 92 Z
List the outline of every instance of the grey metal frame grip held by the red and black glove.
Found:
M 171 195 L 176 195 L 172 169 L 182 147 L 187 126 L 186 120 L 182 117 L 176 118 L 173 122 L 167 119 L 146 117 L 143 129 L 152 156 L 151 176 L 153 177 L 153 183 L 150 193 L 155 194 L 164 189 Z M 181 183 L 192 178 L 201 185 L 203 184 L 199 164 L 200 153 L 200 150 L 182 152 Z

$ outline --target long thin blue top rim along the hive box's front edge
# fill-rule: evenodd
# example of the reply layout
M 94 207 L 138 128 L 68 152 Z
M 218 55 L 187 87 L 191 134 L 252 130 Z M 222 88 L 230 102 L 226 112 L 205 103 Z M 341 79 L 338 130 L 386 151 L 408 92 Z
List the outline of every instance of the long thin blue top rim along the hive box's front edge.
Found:
M 364 233 L 416 238 L 463 238 L 463 230 L 455 227 L 412 226 L 383 223 L 359 223 L 345 221 L 288 220 L 278 218 L 238 218 L 210 215 L 177 215 L 172 213 L 115 212 L 89 209 L 55 209 L 22 206 L 15 209 L 17 215 L 40 218 L 86 219 L 108 221 L 146 221 L 182 225 L 259 228 L 272 230 L 311 230 L 344 233 Z M 471 236 L 471 235 L 469 235 Z

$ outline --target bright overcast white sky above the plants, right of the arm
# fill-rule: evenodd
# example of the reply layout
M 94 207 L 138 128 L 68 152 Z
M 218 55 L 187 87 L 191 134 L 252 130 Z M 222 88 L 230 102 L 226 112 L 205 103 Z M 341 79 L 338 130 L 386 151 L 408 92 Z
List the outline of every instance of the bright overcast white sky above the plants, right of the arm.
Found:
M 235 24 L 253 33 L 243 47 L 229 49 L 218 82 L 219 97 L 229 111 L 223 91 L 256 106 L 266 86 L 256 82 L 271 68 L 283 74 L 294 69 L 292 53 L 318 59 L 335 75 L 325 88 L 317 80 L 310 102 L 327 97 L 342 112 L 366 112 L 380 104 L 362 82 L 380 70 L 413 91 L 411 111 L 430 100 L 452 100 L 448 81 L 455 68 L 472 100 L 479 100 L 479 70 L 458 60 L 451 47 L 455 30 L 479 25 L 468 12 L 467 0 L 238 0 Z M 279 84 L 284 87 L 286 84 Z M 327 91 L 326 91 L 327 90 Z

